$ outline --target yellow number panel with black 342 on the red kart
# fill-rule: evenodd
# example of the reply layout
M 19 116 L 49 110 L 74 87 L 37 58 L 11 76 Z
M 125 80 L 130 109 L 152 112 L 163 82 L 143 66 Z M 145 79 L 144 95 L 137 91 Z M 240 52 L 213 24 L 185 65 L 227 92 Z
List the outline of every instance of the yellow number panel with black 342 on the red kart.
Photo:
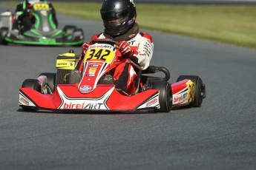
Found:
M 114 59 L 115 53 L 113 50 L 104 48 L 95 48 L 87 50 L 85 54 L 85 61 L 104 61 L 111 63 Z

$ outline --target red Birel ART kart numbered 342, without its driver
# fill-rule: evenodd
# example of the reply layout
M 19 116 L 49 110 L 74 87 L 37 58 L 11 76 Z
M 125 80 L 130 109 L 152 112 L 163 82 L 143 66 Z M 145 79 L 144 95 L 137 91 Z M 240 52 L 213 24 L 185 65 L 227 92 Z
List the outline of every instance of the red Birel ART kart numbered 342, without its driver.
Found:
M 164 67 L 150 66 L 138 71 L 137 89 L 133 94 L 116 89 L 110 70 L 126 59 L 120 57 L 115 41 L 97 39 L 92 42 L 85 53 L 82 75 L 74 71 L 77 56 L 73 50 L 59 55 L 56 73 L 44 72 L 36 79 L 23 82 L 19 89 L 19 106 L 33 111 L 169 112 L 172 107 L 198 107 L 206 98 L 201 78 L 181 75 L 176 83 L 169 84 L 170 73 Z M 155 72 L 163 72 L 165 76 L 151 76 Z M 68 81 L 70 78 L 76 81 Z

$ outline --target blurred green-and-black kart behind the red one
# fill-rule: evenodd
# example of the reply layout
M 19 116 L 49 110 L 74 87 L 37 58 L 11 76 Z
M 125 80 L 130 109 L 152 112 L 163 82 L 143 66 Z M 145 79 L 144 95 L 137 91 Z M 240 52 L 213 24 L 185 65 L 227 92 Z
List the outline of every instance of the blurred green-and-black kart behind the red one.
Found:
M 57 29 L 52 16 L 52 8 L 45 2 L 33 4 L 30 14 L 36 18 L 33 27 L 24 32 L 22 27 L 12 28 L 10 12 L 1 13 L 0 44 L 30 44 L 50 46 L 80 46 L 84 41 L 83 30 L 74 25 L 66 25 L 63 30 Z

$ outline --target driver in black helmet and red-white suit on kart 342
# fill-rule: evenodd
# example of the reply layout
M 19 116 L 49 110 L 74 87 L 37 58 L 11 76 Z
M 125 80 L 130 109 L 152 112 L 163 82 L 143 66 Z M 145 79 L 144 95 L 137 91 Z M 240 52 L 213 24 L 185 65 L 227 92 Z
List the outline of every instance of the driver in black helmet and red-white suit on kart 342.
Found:
M 138 83 L 135 82 L 136 71 L 146 69 L 151 61 L 154 50 L 153 40 L 148 33 L 139 32 L 139 25 L 135 22 L 137 13 L 133 0 L 105 0 L 100 13 L 105 30 L 103 33 L 93 35 L 91 39 L 111 38 L 117 42 L 122 57 L 128 60 L 114 69 L 114 84 L 116 89 L 132 94 Z M 81 57 L 76 63 L 79 73 L 84 67 L 83 58 L 90 45 L 91 42 L 82 45 Z

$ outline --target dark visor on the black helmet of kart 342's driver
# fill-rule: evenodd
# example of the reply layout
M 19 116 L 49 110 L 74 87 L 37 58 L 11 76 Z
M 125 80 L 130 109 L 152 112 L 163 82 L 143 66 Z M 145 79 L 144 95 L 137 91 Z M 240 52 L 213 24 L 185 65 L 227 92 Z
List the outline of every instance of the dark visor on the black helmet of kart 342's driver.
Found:
M 100 11 L 103 21 L 114 21 L 128 16 L 128 8 L 124 10 Z

